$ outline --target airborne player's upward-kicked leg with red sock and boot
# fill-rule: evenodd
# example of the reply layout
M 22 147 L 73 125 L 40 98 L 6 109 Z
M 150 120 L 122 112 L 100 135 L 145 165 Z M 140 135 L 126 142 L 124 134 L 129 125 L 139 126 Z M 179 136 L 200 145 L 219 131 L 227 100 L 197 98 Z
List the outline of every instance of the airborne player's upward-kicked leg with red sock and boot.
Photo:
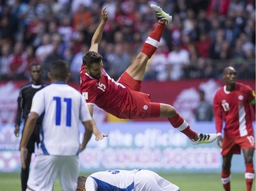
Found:
M 162 33 L 164 33 L 167 24 L 169 24 L 172 20 L 172 16 L 162 11 L 162 9 L 156 5 L 151 5 L 152 9 L 156 14 L 156 18 L 158 19 L 158 25 L 156 29 L 147 37 L 147 40 L 143 44 L 143 49 L 137 55 L 132 65 L 126 69 L 126 72 L 134 79 L 134 80 L 143 80 L 145 69 L 147 66 L 147 61 L 151 58 L 151 56 L 156 52 L 158 48 L 158 44 Z

